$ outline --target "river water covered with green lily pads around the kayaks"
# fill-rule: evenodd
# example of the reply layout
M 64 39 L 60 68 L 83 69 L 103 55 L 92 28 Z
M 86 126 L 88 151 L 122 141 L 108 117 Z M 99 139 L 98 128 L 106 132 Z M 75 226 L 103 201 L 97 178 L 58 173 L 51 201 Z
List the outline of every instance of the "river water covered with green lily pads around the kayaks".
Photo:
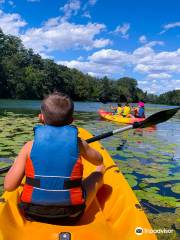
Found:
M 40 101 L 0 100 L 0 167 L 14 159 L 23 144 L 33 138 L 38 123 Z M 75 102 L 74 124 L 97 135 L 123 127 L 103 121 L 97 110 L 108 104 Z M 149 116 L 166 105 L 146 104 Z M 180 217 L 180 111 L 167 122 L 148 129 L 124 132 L 102 140 L 118 164 L 155 229 L 173 229 L 172 234 L 159 234 L 158 239 L 177 239 Z M 0 177 L 0 192 L 3 176 Z

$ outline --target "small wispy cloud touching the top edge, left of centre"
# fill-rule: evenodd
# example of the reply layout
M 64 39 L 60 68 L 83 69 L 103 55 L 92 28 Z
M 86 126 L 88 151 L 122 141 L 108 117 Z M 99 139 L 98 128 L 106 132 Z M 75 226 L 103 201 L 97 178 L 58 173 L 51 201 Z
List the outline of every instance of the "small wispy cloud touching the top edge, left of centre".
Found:
M 66 21 L 78 13 L 81 3 L 80 0 L 69 0 L 63 7 L 60 8 L 64 12 L 61 21 Z

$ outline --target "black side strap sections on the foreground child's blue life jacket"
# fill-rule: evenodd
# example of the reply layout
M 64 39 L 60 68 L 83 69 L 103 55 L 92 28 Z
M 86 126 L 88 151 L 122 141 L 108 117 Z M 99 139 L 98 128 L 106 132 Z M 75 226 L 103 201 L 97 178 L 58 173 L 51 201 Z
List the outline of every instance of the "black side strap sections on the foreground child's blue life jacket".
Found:
M 26 177 L 26 184 L 32 187 L 41 188 L 41 180 L 39 178 Z M 71 189 L 82 186 L 82 178 L 74 180 L 64 180 L 64 189 Z

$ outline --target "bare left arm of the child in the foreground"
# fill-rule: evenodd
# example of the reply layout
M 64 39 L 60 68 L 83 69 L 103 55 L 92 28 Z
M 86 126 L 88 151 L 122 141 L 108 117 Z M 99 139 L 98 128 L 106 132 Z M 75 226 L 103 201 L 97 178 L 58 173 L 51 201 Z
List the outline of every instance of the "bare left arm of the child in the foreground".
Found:
M 32 147 L 32 141 L 27 142 L 19 152 L 12 167 L 4 179 L 4 189 L 6 191 L 15 190 L 20 184 L 25 174 L 25 164 L 29 151 Z

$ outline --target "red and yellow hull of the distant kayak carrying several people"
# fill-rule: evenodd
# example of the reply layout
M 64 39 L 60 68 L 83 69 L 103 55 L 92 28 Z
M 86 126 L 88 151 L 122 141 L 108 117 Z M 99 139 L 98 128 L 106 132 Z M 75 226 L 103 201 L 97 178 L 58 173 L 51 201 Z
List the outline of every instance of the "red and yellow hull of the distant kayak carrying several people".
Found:
M 145 118 L 130 118 L 130 117 L 121 117 L 118 115 L 114 115 L 112 112 L 107 112 L 103 109 L 100 109 L 98 111 L 99 115 L 109 121 L 113 122 L 119 122 L 119 123 L 127 123 L 127 124 L 133 124 L 134 122 L 141 122 L 145 120 Z

